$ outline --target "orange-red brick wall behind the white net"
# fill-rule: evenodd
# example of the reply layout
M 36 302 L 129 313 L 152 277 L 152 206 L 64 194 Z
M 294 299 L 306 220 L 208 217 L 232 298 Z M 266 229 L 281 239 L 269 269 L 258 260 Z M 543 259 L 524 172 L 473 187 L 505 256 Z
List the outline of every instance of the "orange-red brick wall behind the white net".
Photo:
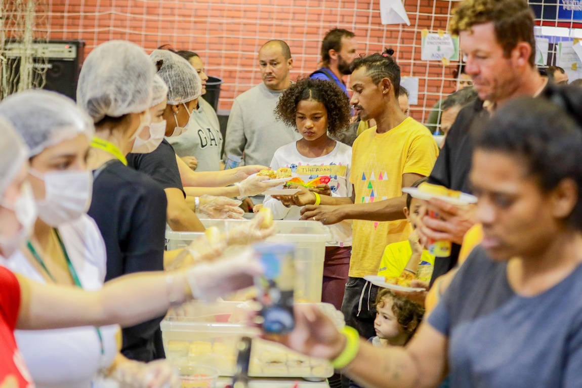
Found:
M 224 80 L 219 109 L 260 83 L 257 51 L 273 38 L 288 42 L 293 78 L 317 68 L 320 41 L 333 27 L 356 33 L 362 53 L 392 46 L 403 76 L 420 77 L 423 120 L 441 93 L 453 91 L 452 63 L 420 60 L 421 30 L 445 30 L 456 1 L 405 0 L 410 26 L 382 26 L 379 0 L 55 0 L 48 3 L 50 39 L 83 39 L 86 53 L 112 39 L 136 42 L 148 52 L 162 44 L 200 54 L 210 76 Z

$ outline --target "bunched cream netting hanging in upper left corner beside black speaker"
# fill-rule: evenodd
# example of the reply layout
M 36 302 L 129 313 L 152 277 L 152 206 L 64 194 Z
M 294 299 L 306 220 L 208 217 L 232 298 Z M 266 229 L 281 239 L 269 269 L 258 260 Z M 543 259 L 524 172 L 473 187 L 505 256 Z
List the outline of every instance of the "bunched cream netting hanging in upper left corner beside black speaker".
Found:
M 47 41 L 45 0 L 0 0 L 0 97 L 44 86 L 47 58 L 34 43 Z

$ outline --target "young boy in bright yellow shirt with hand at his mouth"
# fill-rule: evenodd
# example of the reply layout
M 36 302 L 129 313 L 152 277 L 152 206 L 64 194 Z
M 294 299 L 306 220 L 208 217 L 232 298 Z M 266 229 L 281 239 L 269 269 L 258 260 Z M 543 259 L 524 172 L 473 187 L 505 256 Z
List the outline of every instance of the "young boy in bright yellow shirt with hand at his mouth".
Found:
M 426 177 L 419 179 L 414 182 L 412 187 L 418 187 L 427 180 L 428 178 Z M 421 205 L 421 200 L 412 198 L 410 194 L 406 195 L 404 215 L 406 215 L 406 220 L 411 223 L 414 231 L 410 234 L 407 241 L 400 241 L 399 243 L 386 246 L 384 254 L 382 254 L 378 276 L 399 277 L 403 270 L 417 275 L 419 266 L 426 268 L 425 266 L 430 265 L 432 268 L 434 265 L 434 255 L 431 255 L 427 250 L 423 249 L 418 242 L 418 234 L 416 233 L 416 219 L 418 217 L 418 209 Z M 423 280 L 424 282 L 430 281 L 430 275 L 427 275 L 424 270 L 423 273 L 418 275 L 420 275 L 418 276 L 418 280 Z

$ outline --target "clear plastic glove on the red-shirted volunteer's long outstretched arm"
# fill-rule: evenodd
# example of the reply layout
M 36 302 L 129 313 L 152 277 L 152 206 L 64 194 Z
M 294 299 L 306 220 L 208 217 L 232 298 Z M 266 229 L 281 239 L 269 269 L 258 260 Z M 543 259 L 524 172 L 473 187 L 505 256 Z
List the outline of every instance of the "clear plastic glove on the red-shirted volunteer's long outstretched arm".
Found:
M 187 269 L 186 279 L 195 299 L 212 302 L 218 297 L 253 286 L 253 277 L 264 272 L 250 247 Z

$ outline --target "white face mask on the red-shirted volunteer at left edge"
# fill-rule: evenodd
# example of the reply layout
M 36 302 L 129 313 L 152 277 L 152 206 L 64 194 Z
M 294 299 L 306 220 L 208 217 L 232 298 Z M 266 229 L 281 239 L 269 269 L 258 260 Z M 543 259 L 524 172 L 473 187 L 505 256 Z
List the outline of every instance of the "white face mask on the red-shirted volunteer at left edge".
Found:
M 2 205 L 16 213 L 16 219 L 20 222 L 20 229 L 16 236 L 6 237 L 0 235 L 0 254 L 9 258 L 26 240 L 32 232 L 37 217 L 37 205 L 34 202 L 34 194 L 30 183 L 24 183 L 20 189 L 20 197 L 13 206 Z

